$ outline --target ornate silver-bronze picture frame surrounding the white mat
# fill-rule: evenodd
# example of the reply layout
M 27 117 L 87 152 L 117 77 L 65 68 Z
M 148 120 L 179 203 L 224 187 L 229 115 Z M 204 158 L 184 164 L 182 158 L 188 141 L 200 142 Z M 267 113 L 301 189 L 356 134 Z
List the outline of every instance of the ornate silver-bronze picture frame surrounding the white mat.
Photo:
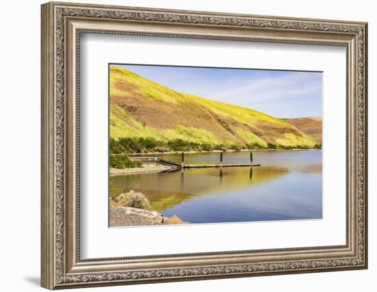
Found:
M 323 44 L 347 50 L 346 244 L 80 258 L 80 34 Z M 42 5 L 42 287 L 367 268 L 367 23 L 77 3 Z

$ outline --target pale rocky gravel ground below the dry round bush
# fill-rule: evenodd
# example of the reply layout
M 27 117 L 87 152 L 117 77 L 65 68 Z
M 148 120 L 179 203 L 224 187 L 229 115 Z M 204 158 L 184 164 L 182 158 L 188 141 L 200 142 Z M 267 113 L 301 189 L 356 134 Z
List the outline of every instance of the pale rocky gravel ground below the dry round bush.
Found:
M 147 211 L 132 207 L 110 208 L 110 226 L 143 226 L 162 224 L 187 224 L 180 217 L 165 217 L 157 211 Z

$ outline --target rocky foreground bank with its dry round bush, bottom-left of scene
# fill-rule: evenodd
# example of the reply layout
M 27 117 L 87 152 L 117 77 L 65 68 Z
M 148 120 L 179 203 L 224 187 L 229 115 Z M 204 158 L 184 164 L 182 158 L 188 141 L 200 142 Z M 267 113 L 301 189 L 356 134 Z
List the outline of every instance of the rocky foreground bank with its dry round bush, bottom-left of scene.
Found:
M 110 226 L 188 224 L 176 215 L 166 217 L 157 211 L 150 211 L 149 207 L 147 197 L 132 189 L 110 198 Z

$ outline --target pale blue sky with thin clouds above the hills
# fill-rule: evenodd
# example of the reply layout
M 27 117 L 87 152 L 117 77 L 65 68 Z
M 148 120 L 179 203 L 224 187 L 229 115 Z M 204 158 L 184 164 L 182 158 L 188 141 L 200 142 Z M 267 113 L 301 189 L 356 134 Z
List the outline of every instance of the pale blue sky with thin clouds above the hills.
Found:
M 115 65 L 175 91 L 262 111 L 277 118 L 322 116 L 322 73 Z

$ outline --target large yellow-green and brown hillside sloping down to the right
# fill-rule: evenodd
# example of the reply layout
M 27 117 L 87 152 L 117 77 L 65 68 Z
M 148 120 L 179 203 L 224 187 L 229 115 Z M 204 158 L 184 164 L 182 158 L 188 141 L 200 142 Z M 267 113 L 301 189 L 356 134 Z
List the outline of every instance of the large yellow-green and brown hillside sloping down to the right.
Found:
M 110 137 L 184 140 L 228 148 L 314 148 L 317 144 L 287 121 L 175 92 L 115 66 L 110 66 Z

